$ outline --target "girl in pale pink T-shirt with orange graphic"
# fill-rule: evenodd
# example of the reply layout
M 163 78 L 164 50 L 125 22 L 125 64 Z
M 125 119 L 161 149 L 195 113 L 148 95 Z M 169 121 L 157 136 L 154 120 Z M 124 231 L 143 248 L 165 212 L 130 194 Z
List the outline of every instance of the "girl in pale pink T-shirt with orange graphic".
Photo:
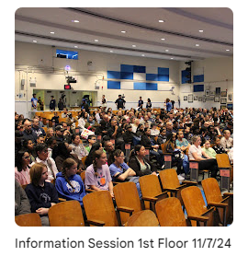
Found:
M 107 166 L 107 155 L 103 150 L 96 150 L 93 156 L 93 164 L 85 171 L 85 185 L 98 191 L 109 191 L 114 198 L 113 183 Z

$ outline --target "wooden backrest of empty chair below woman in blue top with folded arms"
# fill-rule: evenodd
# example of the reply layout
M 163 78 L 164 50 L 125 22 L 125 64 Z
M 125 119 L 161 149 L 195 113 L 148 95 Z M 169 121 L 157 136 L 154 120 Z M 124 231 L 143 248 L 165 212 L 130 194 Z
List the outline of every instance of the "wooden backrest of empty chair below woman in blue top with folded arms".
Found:
M 134 182 L 128 181 L 119 183 L 118 185 L 114 186 L 114 194 L 118 207 L 130 207 L 134 210 L 132 214 L 135 214 L 142 210 L 141 200 Z M 129 217 L 130 214 L 128 213 L 120 213 L 122 225 L 128 221 Z

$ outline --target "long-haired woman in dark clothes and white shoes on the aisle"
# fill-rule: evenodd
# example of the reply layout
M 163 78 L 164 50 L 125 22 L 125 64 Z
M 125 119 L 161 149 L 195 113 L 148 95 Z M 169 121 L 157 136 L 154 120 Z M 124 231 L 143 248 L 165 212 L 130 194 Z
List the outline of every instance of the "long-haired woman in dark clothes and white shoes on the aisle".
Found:
M 164 145 L 165 153 L 172 154 L 172 166 L 176 166 L 178 180 L 185 180 L 183 169 L 183 159 L 179 149 L 175 148 L 175 133 L 168 134 L 167 140 Z

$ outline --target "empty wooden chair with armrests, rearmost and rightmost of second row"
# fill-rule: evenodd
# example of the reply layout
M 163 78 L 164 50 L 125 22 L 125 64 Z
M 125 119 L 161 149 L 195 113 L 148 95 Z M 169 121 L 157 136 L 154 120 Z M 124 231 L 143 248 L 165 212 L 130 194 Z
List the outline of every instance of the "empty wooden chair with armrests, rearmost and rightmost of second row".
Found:
M 180 184 L 175 169 L 163 169 L 159 172 L 159 178 L 161 180 L 163 191 L 170 192 L 171 196 L 177 197 L 183 205 L 181 196 L 182 189 L 187 186 L 197 185 L 196 181 L 183 180 Z

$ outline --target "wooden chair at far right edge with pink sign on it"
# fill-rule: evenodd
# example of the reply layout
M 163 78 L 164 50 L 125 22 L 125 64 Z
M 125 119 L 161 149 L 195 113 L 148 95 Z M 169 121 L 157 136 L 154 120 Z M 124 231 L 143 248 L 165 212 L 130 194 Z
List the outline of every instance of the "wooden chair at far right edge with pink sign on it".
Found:
M 220 189 L 230 192 L 230 184 L 233 181 L 233 167 L 227 154 L 217 154 L 216 160 L 220 169 Z

